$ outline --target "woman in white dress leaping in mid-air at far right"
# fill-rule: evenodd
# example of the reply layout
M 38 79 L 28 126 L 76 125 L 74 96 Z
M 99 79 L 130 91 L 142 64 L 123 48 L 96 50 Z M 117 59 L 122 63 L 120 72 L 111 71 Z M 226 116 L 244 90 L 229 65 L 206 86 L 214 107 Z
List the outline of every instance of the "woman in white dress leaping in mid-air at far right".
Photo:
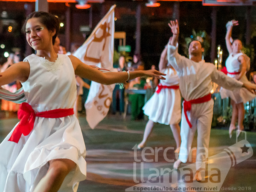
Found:
M 230 42 L 231 33 L 233 26 L 238 25 L 238 21 L 232 20 L 227 23 L 227 34 L 226 34 L 226 44 L 229 56 L 226 60 L 227 76 L 237 79 L 243 83 L 249 82 L 245 76 L 247 63 L 246 55 L 241 52 L 242 43 L 239 39 Z M 244 130 L 244 103 L 251 101 L 255 98 L 255 94 L 251 93 L 245 88 L 237 89 L 234 91 L 221 88 L 221 98 L 230 97 L 232 105 L 232 119 L 229 128 L 230 138 L 232 137 L 233 131 L 236 129 L 236 121 L 238 119 L 238 136 L 241 130 Z

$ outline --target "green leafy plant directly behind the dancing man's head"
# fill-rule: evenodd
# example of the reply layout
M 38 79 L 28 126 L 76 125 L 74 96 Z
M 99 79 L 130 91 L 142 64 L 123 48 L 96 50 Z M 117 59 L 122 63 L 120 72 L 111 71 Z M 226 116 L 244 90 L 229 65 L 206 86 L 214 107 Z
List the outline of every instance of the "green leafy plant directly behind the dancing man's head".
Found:
M 190 37 L 185 38 L 186 45 L 184 45 L 185 48 L 185 54 L 189 56 L 189 44 L 192 41 L 200 41 L 201 44 L 204 46 L 204 52 L 203 56 L 207 55 L 207 52 L 210 48 L 210 41 L 209 41 L 209 36 L 207 35 L 207 32 L 205 31 L 199 31 L 195 32 L 195 29 L 192 29 L 192 35 Z

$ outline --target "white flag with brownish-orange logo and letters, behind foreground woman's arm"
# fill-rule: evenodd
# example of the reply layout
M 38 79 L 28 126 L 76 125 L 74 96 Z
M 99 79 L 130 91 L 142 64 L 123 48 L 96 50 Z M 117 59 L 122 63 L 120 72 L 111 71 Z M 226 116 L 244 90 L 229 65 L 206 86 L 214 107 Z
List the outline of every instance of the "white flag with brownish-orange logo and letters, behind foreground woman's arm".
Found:
M 111 6 L 84 44 L 74 53 L 85 64 L 113 71 L 115 7 Z M 85 102 L 86 120 L 90 128 L 95 128 L 107 115 L 114 87 L 115 84 L 104 85 L 92 81 Z

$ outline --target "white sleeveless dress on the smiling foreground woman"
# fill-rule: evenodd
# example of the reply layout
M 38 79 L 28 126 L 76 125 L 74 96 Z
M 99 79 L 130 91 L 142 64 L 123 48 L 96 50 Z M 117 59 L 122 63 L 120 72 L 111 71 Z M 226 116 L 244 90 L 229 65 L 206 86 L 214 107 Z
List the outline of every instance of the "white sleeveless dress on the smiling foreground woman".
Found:
M 49 62 L 32 54 L 24 61 L 30 64 L 30 74 L 22 85 L 35 112 L 73 108 L 76 79 L 68 56 L 58 54 L 55 62 Z M 86 179 L 86 149 L 75 115 L 54 119 L 35 117 L 33 130 L 27 136 L 22 135 L 18 143 L 8 141 L 13 130 L 0 144 L 0 192 L 33 191 L 46 174 L 49 160 L 62 158 L 72 160 L 77 166 L 59 191 L 77 191 L 79 181 Z

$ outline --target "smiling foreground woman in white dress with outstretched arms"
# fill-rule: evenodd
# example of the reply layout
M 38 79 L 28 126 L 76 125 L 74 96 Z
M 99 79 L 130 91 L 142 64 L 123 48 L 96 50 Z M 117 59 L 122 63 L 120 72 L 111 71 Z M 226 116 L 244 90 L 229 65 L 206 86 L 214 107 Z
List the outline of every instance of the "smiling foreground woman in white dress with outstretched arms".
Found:
M 0 86 L 19 80 L 27 98 L 20 122 L 0 144 L 0 192 L 76 191 L 86 178 L 84 139 L 73 115 L 75 75 L 102 84 L 138 76 L 164 79 L 156 70 L 102 73 L 74 56 L 55 53 L 59 26 L 54 15 L 31 13 L 23 31 L 37 53 L 0 73 Z

